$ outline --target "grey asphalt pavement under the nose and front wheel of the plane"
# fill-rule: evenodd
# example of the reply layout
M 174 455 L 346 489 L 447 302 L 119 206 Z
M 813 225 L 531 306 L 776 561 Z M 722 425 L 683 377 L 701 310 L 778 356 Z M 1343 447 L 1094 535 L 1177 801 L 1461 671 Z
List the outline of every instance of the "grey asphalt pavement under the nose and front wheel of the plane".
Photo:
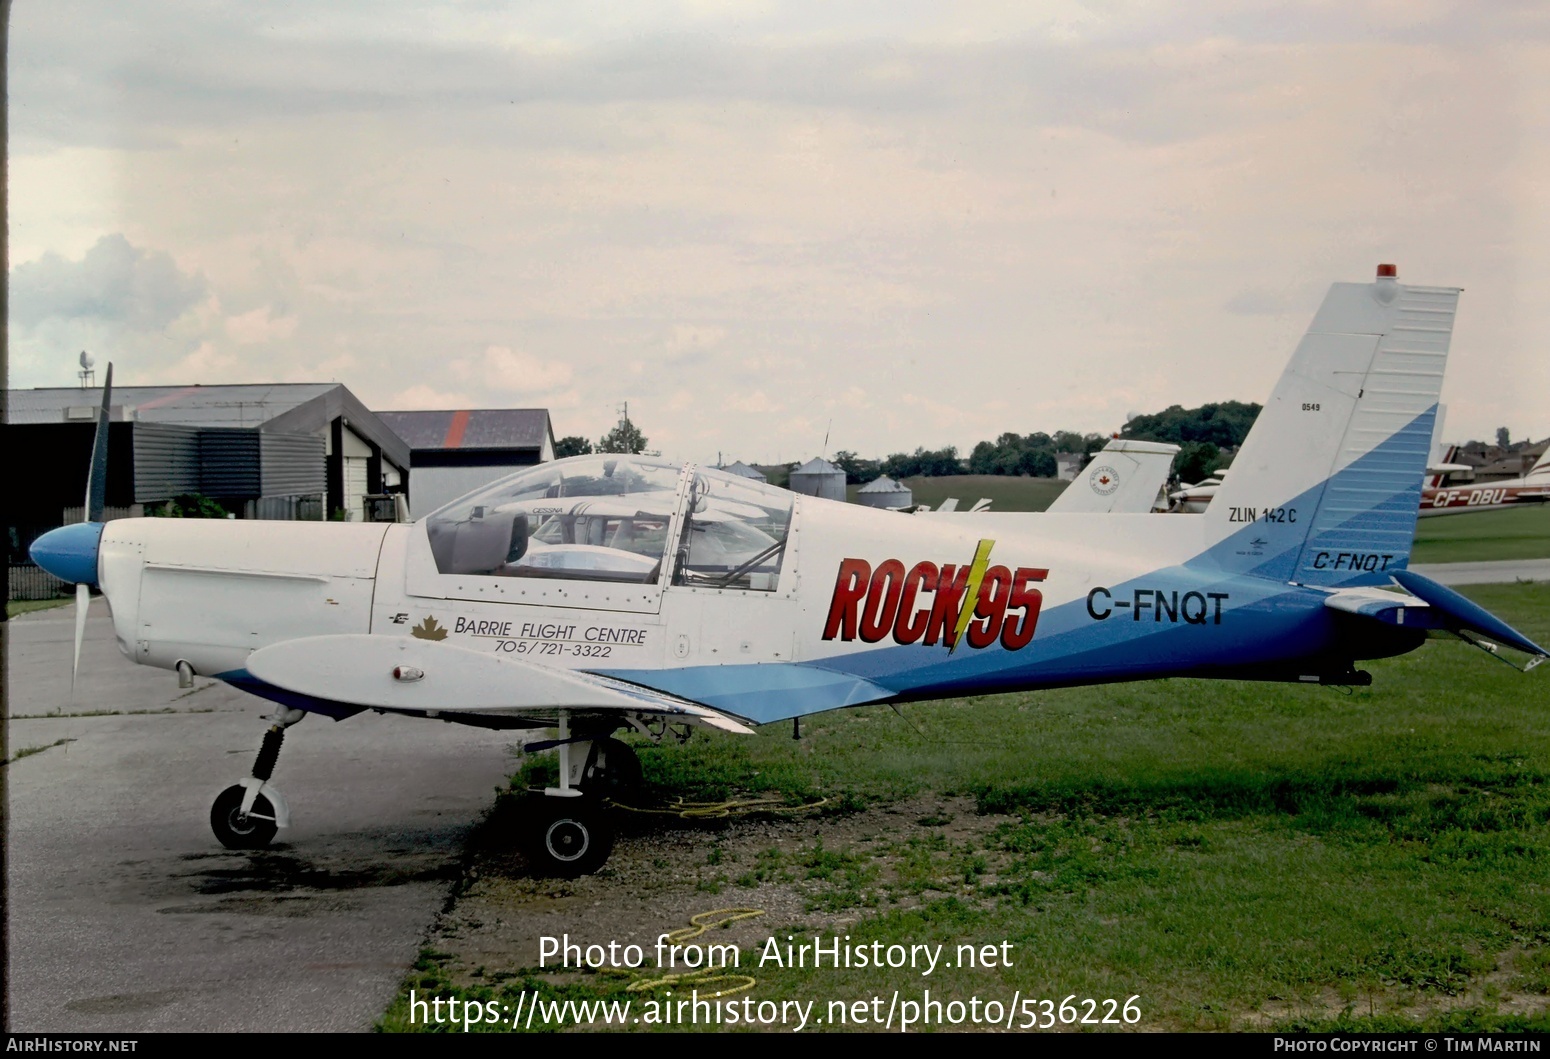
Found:
M 209 806 L 270 712 L 124 659 L 101 600 L 8 622 L 11 1031 L 369 1030 L 460 873 L 512 740 L 366 713 L 287 732 L 293 826 L 232 853 Z

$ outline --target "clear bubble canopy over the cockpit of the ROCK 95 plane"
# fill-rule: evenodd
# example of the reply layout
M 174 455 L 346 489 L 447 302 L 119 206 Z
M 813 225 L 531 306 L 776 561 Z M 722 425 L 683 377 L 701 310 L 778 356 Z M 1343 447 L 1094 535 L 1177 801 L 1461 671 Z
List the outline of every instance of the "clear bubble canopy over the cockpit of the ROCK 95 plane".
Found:
M 792 493 L 649 456 L 538 464 L 426 516 L 442 574 L 772 592 Z M 670 544 L 673 544 L 670 547 Z

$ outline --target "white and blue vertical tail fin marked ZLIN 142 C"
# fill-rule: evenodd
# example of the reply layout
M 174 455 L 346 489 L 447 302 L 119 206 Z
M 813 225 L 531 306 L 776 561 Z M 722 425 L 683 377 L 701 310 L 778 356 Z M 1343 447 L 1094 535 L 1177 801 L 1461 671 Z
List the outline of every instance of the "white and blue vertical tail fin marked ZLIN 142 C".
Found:
M 1409 563 L 1459 290 L 1378 267 L 1335 284 L 1232 476 L 1203 561 L 1302 585 L 1387 585 Z

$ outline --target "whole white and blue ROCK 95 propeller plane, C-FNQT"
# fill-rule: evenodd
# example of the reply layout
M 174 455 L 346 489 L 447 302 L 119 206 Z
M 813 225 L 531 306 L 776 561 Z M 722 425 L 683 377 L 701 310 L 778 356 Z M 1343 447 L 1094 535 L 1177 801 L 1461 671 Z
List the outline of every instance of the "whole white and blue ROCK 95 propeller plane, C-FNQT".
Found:
M 558 729 L 535 850 L 575 874 L 606 859 L 608 795 L 640 775 L 620 729 L 1162 676 L 1369 684 L 1358 661 L 1437 633 L 1538 664 L 1406 569 L 1457 299 L 1392 267 L 1335 284 L 1201 515 L 899 518 L 581 456 L 414 524 L 116 519 L 34 557 L 101 588 L 135 662 L 277 704 L 212 808 L 225 845 L 288 823 L 270 785 L 288 726 L 381 710 Z

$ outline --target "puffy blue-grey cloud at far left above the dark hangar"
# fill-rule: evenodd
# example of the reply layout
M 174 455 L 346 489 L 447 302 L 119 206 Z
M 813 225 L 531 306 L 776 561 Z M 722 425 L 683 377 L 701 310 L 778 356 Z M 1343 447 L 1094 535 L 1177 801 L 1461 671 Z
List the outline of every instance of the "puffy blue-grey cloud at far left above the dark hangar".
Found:
M 65 319 L 161 330 L 205 295 L 205 278 L 180 270 L 172 254 L 112 234 L 81 260 L 48 253 L 12 268 L 11 324 Z

